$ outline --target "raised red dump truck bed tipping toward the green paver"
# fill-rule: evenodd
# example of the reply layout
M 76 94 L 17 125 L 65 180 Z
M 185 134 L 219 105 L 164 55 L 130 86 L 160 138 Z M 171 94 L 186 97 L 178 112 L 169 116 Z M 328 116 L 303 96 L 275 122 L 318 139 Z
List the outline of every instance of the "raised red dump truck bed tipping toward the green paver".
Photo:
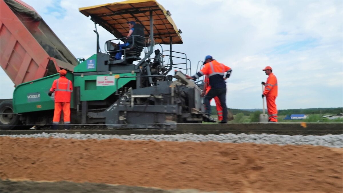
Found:
M 18 84 L 73 71 L 77 59 L 42 17 L 20 0 L 0 0 L 0 66 Z

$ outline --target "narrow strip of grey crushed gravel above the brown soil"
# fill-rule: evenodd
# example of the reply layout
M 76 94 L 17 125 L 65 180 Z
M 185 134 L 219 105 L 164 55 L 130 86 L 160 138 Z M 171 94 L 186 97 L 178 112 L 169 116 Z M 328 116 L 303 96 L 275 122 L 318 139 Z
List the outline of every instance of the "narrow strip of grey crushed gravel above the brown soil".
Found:
M 123 139 L 123 140 L 156 140 L 156 141 L 218 141 L 222 143 L 256 143 L 278 145 L 314 145 L 326 147 L 343 147 L 343 134 L 340 135 L 270 135 L 270 134 L 220 134 L 220 135 L 102 135 L 102 134 L 66 134 L 66 133 L 40 133 L 31 135 L 0 135 L 0 137 L 38 138 L 53 137 L 64 139 Z

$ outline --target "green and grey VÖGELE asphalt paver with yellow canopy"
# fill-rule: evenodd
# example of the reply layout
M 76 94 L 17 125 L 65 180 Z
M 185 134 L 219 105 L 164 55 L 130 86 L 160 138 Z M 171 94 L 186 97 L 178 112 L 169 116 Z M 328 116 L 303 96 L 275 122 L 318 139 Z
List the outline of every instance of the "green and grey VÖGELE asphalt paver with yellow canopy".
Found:
M 203 114 L 201 89 L 181 72 L 191 73 L 186 54 L 172 49 L 174 44 L 182 44 L 181 31 L 161 4 L 128 0 L 79 10 L 116 39 L 106 41 L 102 52 L 99 34 L 94 30 L 96 54 L 81 61 L 73 71 L 67 69 L 67 78 L 74 86 L 72 124 L 176 129 L 177 123 L 214 121 Z M 128 21 L 136 22 L 129 38 Z M 122 58 L 116 59 L 119 41 L 129 45 L 120 50 Z M 170 49 L 163 50 L 163 44 Z M 184 62 L 174 63 L 176 59 Z M 47 93 L 57 78 L 54 74 L 16 87 L 13 109 L 20 124 L 52 123 L 54 101 Z

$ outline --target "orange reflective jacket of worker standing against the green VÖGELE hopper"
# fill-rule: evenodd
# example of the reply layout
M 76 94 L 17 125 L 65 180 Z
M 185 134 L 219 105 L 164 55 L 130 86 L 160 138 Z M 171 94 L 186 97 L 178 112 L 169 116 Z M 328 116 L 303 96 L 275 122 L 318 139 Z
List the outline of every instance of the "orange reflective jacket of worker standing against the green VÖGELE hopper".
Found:
M 50 91 L 55 92 L 55 102 L 70 103 L 73 84 L 66 77 L 61 76 L 59 79 L 54 80 Z

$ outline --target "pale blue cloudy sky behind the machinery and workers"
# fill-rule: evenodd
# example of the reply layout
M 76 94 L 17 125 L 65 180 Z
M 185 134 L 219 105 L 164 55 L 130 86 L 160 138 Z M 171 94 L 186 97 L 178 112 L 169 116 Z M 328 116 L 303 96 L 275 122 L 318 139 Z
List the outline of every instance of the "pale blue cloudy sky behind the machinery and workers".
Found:
M 23 1 L 76 58 L 95 54 L 94 23 L 78 8 L 112 1 Z M 206 55 L 232 68 L 226 83 L 228 108 L 262 108 L 265 66 L 277 77 L 277 109 L 343 106 L 342 0 L 157 1 L 182 31 L 184 43 L 173 50 L 187 54 L 190 75 Z M 113 35 L 101 26 L 98 32 L 103 49 Z M 0 99 L 12 98 L 14 84 L 2 69 L 0 78 Z

